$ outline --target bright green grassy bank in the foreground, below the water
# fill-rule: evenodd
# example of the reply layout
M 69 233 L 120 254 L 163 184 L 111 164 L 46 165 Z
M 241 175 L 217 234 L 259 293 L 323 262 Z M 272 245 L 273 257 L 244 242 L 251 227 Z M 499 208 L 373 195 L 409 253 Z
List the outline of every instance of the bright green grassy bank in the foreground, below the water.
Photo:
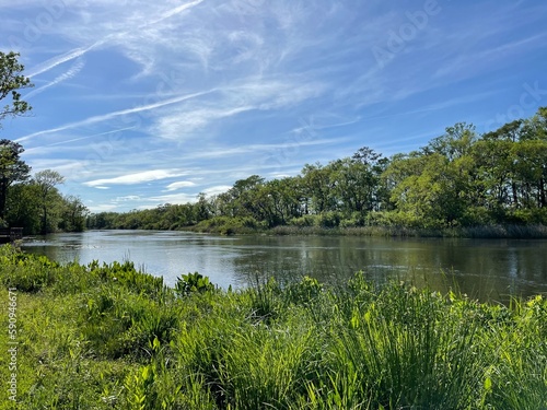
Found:
M 10 247 L 0 278 L 0 343 L 9 312 L 19 342 L 19 402 L 4 384 L 0 409 L 547 407 L 540 296 L 478 304 L 360 274 L 242 291 L 188 274 L 168 289 L 130 262 L 59 266 Z

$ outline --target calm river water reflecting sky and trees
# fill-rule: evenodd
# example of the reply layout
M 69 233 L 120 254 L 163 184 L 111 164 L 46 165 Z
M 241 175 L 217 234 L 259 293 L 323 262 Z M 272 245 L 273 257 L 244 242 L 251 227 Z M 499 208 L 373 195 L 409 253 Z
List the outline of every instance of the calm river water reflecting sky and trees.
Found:
M 480 301 L 547 293 L 547 241 L 383 238 L 354 236 L 216 236 L 165 231 L 53 234 L 23 245 L 59 262 L 131 260 L 139 269 L 177 277 L 198 271 L 228 288 L 303 276 L 344 283 L 356 271 L 376 282 L 408 280 Z

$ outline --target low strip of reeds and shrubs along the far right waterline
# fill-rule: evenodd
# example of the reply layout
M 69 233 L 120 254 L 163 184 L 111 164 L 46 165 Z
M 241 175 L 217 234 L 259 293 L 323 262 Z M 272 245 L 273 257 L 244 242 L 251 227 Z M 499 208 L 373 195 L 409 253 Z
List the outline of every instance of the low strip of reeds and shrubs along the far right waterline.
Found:
M 376 237 L 459 237 L 459 238 L 497 238 L 497 239 L 545 239 L 547 226 L 543 224 L 498 224 L 480 226 L 459 226 L 443 229 L 424 229 L 408 226 L 294 226 L 279 225 L 267 229 L 260 224 L 229 218 L 219 218 L 181 231 L 211 233 L 218 235 L 350 235 Z

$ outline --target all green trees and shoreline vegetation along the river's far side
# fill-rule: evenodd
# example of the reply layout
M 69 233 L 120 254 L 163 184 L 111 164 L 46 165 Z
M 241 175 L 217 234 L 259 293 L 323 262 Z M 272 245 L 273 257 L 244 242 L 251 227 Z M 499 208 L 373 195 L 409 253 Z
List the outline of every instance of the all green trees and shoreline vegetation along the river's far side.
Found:
M 547 107 L 478 134 L 456 124 L 410 153 L 370 148 L 305 164 L 296 176 L 236 180 L 195 202 L 90 214 L 51 169 L 31 177 L 19 143 L 0 140 L 0 227 L 25 234 L 85 229 L 220 234 L 547 237 Z M 3 159 L 3 160 L 2 160 Z M 4 222 L 2 222 L 2 220 Z

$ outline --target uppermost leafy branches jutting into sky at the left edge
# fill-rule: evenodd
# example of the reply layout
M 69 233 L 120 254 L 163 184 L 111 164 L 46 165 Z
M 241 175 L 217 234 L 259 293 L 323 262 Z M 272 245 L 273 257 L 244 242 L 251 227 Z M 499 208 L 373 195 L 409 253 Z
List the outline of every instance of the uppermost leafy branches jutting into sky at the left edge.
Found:
M 22 74 L 24 66 L 18 61 L 18 52 L 0 51 L 0 101 L 8 98 L 8 104 L 0 107 L 0 127 L 5 117 L 15 117 L 31 110 L 32 107 L 21 99 L 19 90 L 33 86 L 31 80 Z M 11 98 L 11 102 L 10 102 Z

